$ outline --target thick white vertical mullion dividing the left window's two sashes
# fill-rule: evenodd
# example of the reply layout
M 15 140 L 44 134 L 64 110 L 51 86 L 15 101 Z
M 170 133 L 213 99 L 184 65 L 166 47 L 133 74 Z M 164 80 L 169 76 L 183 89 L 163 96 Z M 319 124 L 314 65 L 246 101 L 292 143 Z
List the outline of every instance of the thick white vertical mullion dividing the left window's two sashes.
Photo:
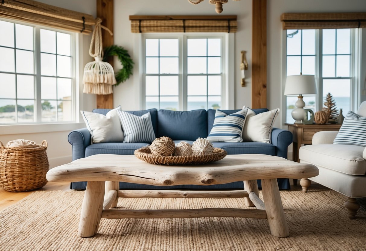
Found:
M 34 86 L 34 90 L 35 90 L 35 108 L 34 108 L 34 112 L 35 117 L 36 117 L 36 122 L 41 122 L 42 121 L 42 101 L 41 101 L 41 32 L 40 32 L 40 28 L 36 27 L 36 36 L 35 36 L 35 40 L 34 40 L 34 55 L 35 55 L 35 66 L 34 67 L 36 69 L 36 76 L 35 76 L 35 86 Z

